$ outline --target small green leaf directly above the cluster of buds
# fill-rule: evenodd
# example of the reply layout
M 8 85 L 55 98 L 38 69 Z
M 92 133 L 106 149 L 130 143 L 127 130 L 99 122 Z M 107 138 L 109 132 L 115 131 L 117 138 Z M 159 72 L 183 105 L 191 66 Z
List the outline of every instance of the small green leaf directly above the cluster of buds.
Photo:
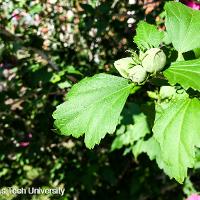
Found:
M 156 26 L 142 21 L 138 23 L 134 42 L 141 50 L 144 50 L 158 47 L 163 38 L 164 32 L 159 31 Z

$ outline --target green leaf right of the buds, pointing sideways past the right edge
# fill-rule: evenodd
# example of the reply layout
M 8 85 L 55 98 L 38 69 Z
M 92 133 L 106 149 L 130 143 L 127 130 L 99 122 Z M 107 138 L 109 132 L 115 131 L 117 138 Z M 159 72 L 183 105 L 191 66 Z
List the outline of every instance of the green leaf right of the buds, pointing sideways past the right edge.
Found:
M 164 71 L 171 85 L 179 83 L 184 89 L 200 91 L 200 59 L 173 63 Z

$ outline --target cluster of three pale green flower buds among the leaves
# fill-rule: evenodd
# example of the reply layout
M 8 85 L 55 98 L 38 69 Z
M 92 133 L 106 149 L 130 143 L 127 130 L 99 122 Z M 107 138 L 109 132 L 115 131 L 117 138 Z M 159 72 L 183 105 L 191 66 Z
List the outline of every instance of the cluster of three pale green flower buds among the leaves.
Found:
M 119 73 L 131 79 L 134 83 L 142 84 L 148 73 L 155 74 L 160 72 L 166 64 L 166 55 L 159 48 L 151 48 L 140 55 L 140 59 L 131 57 L 117 60 L 114 65 Z

